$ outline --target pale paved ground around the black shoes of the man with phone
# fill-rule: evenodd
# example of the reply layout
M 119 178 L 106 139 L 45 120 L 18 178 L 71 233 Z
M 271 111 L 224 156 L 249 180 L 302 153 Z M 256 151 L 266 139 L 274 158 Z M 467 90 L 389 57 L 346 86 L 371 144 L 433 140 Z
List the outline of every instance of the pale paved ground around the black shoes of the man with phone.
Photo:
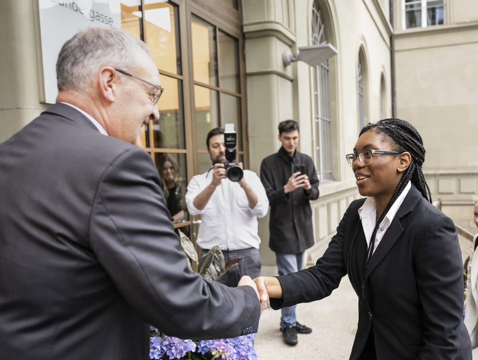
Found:
M 277 275 L 275 266 L 263 266 L 263 275 Z M 297 319 L 312 328 L 289 346 L 279 331 L 280 310 L 267 308 L 261 315 L 255 345 L 259 360 L 346 360 L 357 331 L 358 300 L 347 277 L 331 296 L 297 306 Z

